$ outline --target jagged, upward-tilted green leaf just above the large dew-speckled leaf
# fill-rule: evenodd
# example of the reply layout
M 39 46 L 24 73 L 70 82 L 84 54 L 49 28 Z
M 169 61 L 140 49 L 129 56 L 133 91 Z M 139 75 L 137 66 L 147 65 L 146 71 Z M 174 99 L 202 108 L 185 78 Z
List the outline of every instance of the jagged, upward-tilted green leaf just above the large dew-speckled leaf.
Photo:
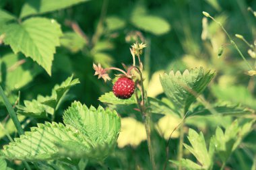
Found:
M 39 118 L 45 118 L 47 114 L 54 114 L 61 99 L 65 96 L 67 91 L 77 83 L 79 83 L 79 80 L 73 79 L 73 75 L 71 75 L 71 77 L 68 77 L 61 85 L 55 85 L 51 96 L 43 97 L 42 95 L 38 95 L 37 100 L 25 100 L 24 106 L 17 105 L 18 113 Z

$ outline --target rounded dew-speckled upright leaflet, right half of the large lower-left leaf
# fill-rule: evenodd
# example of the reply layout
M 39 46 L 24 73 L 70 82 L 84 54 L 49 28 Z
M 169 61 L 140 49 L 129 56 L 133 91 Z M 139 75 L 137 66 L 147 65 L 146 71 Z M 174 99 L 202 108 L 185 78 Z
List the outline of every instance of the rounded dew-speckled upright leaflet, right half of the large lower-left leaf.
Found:
M 93 146 L 111 146 L 121 128 L 117 112 L 104 110 L 101 106 L 97 110 L 94 107 L 89 109 L 76 101 L 65 111 L 63 122 L 86 136 Z

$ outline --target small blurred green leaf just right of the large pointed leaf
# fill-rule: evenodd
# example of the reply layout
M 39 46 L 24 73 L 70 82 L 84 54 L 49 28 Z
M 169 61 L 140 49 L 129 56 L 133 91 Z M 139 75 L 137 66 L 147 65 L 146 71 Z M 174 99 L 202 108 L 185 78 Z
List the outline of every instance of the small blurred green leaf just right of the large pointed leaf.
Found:
M 71 52 L 78 52 L 86 45 L 86 40 L 75 32 L 65 32 L 61 37 L 61 46 L 69 49 Z

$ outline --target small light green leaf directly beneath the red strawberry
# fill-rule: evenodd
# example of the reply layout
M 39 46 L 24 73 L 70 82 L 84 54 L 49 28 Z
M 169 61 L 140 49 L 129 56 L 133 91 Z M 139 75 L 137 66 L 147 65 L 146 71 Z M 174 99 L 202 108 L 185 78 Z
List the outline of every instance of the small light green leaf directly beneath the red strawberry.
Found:
M 135 96 L 132 95 L 129 99 L 119 99 L 115 97 L 115 94 L 111 91 L 109 93 L 105 93 L 101 95 L 99 100 L 103 103 L 115 104 L 115 105 L 127 105 L 127 104 L 134 104 L 137 103 Z

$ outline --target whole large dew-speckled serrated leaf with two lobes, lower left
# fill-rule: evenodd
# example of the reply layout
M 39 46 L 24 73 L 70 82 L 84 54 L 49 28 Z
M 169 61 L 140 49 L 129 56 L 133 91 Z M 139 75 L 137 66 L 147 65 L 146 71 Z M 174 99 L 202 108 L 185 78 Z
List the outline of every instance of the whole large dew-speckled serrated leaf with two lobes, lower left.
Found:
M 7 159 L 45 161 L 88 157 L 102 161 L 116 145 L 121 122 L 116 112 L 87 108 L 78 101 L 63 116 L 64 124 L 38 124 L 3 147 Z

